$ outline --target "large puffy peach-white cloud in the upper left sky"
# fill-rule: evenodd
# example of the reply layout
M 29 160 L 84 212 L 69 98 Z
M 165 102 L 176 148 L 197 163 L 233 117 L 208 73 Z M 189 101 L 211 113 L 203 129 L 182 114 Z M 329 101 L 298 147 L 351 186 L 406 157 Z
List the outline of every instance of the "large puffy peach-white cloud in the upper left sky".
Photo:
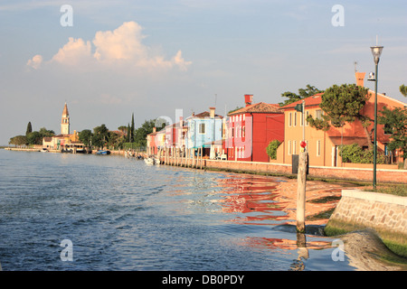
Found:
M 142 70 L 187 70 L 191 61 L 185 61 L 182 51 L 166 60 L 159 52 L 143 44 L 143 28 L 136 22 L 127 22 L 114 31 L 95 33 L 92 42 L 81 38 L 69 38 L 68 43 L 52 57 L 50 63 L 86 70 L 110 69 L 115 65 Z M 93 44 L 93 45 L 92 45 Z M 94 49 L 94 52 L 92 52 Z M 41 57 L 36 55 L 34 58 Z M 33 59 L 34 59 L 33 58 Z M 41 61 L 30 60 L 27 65 L 39 68 Z M 37 65 L 38 63 L 38 65 Z

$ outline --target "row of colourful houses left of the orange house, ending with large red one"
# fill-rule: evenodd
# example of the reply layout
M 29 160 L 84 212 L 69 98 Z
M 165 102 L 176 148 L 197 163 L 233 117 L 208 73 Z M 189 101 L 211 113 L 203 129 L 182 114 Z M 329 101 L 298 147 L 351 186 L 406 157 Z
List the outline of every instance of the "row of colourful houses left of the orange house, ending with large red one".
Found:
M 147 154 L 159 150 L 202 149 L 204 157 L 233 161 L 269 162 L 266 147 L 271 140 L 284 138 L 284 114 L 277 104 L 252 104 L 252 95 L 244 96 L 245 107 L 227 117 L 209 111 L 179 119 L 159 132 L 147 135 Z

